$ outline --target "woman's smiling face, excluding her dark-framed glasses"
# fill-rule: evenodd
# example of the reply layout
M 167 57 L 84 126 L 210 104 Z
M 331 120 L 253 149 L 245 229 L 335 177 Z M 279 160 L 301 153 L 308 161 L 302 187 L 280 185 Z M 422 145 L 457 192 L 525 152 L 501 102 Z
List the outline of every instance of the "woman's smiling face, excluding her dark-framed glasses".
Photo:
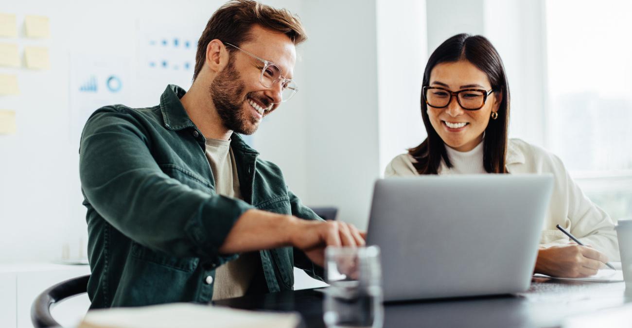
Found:
M 430 72 L 430 87 L 440 87 L 453 92 L 472 88 L 489 91 L 492 88 L 487 74 L 465 59 L 437 64 Z M 428 90 L 428 93 L 432 91 Z M 459 106 L 454 96 L 447 107 L 427 106 L 428 118 L 443 142 L 459 152 L 467 152 L 483 140 L 483 132 L 487 128 L 490 115 L 492 111 L 498 111 L 501 99 L 500 92 L 494 91 L 487 97 L 481 109 L 467 111 Z

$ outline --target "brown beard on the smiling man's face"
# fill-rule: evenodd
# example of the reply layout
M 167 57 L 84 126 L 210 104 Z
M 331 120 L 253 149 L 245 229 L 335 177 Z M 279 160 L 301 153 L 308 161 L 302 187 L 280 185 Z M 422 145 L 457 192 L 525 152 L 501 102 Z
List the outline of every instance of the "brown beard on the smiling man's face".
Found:
M 228 66 L 210 83 L 209 92 L 224 127 L 242 135 L 252 135 L 257 131 L 259 121 L 250 112 L 243 110 L 245 99 L 241 99 L 241 94 L 244 88 L 245 85 L 231 58 Z M 249 95 L 246 95 L 246 98 Z M 250 121 L 250 125 L 247 121 Z

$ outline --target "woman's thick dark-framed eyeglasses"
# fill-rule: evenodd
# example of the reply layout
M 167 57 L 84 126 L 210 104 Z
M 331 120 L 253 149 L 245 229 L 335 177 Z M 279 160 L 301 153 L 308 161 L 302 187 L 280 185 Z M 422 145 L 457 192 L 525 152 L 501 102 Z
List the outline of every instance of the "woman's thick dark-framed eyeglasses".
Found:
M 423 87 L 423 100 L 430 107 L 445 108 L 452 101 L 452 97 L 456 96 L 456 101 L 463 109 L 468 111 L 476 111 L 485 106 L 487 96 L 492 94 L 494 89 L 463 89 L 458 91 L 447 90 L 440 87 Z

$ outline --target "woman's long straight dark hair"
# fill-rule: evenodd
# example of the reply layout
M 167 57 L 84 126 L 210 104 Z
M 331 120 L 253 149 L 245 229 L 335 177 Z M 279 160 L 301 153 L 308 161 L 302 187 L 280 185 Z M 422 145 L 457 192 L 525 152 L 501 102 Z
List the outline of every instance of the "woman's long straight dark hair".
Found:
M 432 52 L 423 71 L 423 86 L 430 85 L 430 73 L 432 69 L 441 63 L 466 60 L 487 74 L 494 94 L 502 94 L 501 104 L 498 108 L 498 118 L 490 119 L 485 128 L 485 140 L 483 141 L 483 166 L 488 173 L 507 173 L 505 168 L 505 154 L 507 152 L 507 128 L 509 126 L 509 85 L 501 56 L 485 37 L 481 35 L 458 34 L 447 39 Z M 423 91 L 422 91 L 423 93 Z M 421 97 L 423 125 L 426 127 L 428 137 L 421 145 L 411 148 L 408 153 L 412 155 L 416 163 L 413 163 L 419 174 L 437 174 L 441 159 L 447 167 L 452 163 L 447 156 L 446 146 L 430 124 L 428 118 L 428 105 Z

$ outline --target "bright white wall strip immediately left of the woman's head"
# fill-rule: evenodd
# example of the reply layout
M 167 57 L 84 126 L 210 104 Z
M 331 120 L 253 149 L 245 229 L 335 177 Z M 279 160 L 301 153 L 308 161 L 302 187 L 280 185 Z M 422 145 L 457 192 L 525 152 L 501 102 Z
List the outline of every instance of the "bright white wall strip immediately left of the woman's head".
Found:
M 428 61 L 425 18 L 425 1 L 377 1 L 380 174 L 426 137 L 420 103 Z

